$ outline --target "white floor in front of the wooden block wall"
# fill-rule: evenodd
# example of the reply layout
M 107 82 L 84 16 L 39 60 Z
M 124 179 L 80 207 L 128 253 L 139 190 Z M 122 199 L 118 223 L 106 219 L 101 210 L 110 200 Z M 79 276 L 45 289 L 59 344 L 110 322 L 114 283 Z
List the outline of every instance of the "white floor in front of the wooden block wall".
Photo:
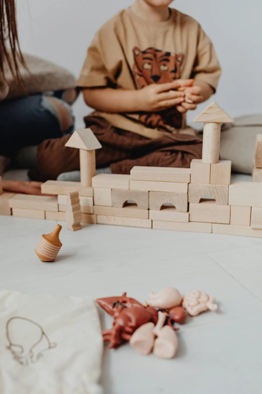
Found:
M 62 223 L 61 223 L 62 224 Z M 30 293 L 119 295 L 141 301 L 177 287 L 214 295 L 219 312 L 192 318 L 173 360 L 129 345 L 105 350 L 105 394 L 258 393 L 262 385 L 262 241 L 218 234 L 87 225 L 63 229 L 53 264 L 34 249 L 53 221 L 0 216 L 0 288 Z M 111 318 L 101 312 L 102 327 Z

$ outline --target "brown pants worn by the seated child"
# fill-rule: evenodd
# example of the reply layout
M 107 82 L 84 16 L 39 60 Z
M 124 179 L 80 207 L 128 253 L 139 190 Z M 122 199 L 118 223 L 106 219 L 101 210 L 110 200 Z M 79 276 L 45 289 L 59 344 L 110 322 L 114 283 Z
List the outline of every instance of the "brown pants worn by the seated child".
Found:
M 187 134 L 168 134 L 157 139 L 113 127 L 106 120 L 88 116 L 102 148 L 96 150 L 96 167 L 110 166 L 113 174 L 129 174 L 134 166 L 189 168 L 192 159 L 201 159 L 202 140 Z M 79 150 L 65 147 L 70 135 L 48 139 L 38 147 L 37 166 L 31 179 L 55 180 L 63 172 L 79 170 Z

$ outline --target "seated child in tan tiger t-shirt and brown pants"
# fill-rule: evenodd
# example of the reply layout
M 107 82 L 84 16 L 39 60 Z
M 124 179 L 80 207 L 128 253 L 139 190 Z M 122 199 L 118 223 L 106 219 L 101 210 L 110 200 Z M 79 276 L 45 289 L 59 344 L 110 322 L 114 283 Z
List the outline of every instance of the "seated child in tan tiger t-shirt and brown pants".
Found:
M 215 92 L 221 69 L 199 23 L 171 3 L 136 0 L 88 48 L 78 86 L 95 109 L 85 123 L 102 144 L 97 167 L 126 174 L 134 165 L 189 167 L 201 157 L 201 139 L 184 130 L 185 113 Z M 78 151 L 64 147 L 67 139 L 39 146 L 34 178 L 79 170 Z

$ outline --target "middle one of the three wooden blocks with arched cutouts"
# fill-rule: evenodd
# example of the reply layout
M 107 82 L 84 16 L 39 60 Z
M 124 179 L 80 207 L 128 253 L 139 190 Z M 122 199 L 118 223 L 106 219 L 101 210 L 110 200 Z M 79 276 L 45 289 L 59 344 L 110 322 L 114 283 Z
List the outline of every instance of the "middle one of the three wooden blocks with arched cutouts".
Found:
M 188 211 L 186 193 L 149 192 L 149 208 L 160 211 L 164 204 L 173 204 L 178 212 Z

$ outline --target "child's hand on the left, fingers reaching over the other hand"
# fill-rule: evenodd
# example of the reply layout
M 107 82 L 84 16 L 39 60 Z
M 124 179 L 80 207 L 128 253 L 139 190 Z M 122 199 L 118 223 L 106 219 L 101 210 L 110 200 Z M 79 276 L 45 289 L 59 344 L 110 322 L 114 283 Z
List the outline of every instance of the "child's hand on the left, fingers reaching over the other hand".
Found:
M 192 85 L 192 80 L 176 80 L 167 84 L 152 84 L 137 91 L 141 111 L 156 112 L 180 105 L 185 93 L 178 91 Z

